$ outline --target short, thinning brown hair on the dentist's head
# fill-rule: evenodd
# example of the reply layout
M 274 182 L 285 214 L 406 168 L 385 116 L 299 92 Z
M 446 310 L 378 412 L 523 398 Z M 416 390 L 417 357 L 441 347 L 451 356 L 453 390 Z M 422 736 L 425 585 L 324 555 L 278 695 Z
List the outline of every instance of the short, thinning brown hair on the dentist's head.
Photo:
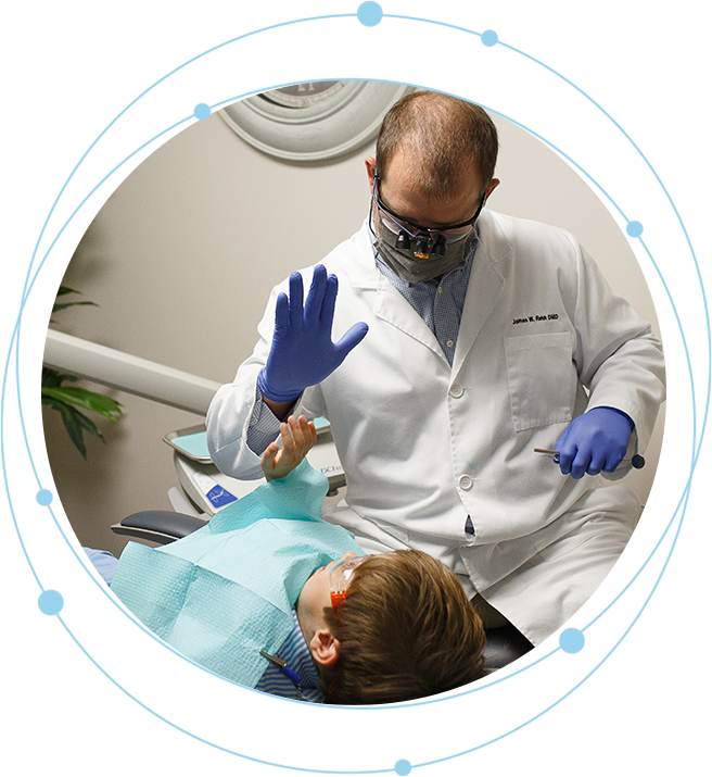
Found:
M 457 186 L 463 166 L 473 162 L 487 185 L 497 163 L 497 127 L 471 102 L 436 91 L 414 91 L 385 114 L 376 143 L 376 165 L 385 179 L 397 148 L 412 158 L 420 190 L 443 200 Z

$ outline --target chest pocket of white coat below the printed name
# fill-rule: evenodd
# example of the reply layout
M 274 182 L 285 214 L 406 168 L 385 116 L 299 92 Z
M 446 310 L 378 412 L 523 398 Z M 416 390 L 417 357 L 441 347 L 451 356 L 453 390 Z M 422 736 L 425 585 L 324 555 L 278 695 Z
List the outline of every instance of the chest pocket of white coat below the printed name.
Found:
M 571 421 L 576 394 L 571 333 L 505 338 L 516 431 Z

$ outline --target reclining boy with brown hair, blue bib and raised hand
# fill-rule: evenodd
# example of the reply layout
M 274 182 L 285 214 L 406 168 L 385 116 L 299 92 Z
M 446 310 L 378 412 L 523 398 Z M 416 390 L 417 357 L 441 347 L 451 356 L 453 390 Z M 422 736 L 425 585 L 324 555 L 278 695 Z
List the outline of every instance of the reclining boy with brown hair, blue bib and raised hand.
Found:
M 267 483 L 207 526 L 164 548 L 130 542 L 106 569 L 111 593 L 183 655 L 287 698 L 398 704 L 486 682 L 484 629 L 457 577 L 420 551 L 365 556 L 321 518 L 328 481 L 304 462 L 314 424 L 290 417 L 281 439 L 263 455 Z

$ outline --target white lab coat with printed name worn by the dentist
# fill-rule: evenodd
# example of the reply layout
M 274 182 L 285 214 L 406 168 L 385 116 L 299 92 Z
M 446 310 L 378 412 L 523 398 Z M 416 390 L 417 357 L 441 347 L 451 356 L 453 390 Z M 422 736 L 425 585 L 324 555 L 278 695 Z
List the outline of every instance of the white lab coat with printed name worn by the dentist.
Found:
M 488 210 L 479 228 L 452 368 L 379 272 L 367 225 L 338 246 L 322 262 L 340 283 L 333 339 L 359 321 L 369 331 L 295 412 L 331 423 L 347 481 L 341 523 L 357 538 L 430 552 L 485 596 L 569 531 L 557 519 L 602 484 L 564 477 L 533 449 L 551 448 L 587 409 L 610 405 L 633 418 L 631 450 L 644 452 L 664 398 L 664 359 L 649 324 L 569 233 Z M 312 271 L 301 271 L 305 290 Z M 253 355 L 208 411 L 211 455 L 234 477 L 262 474 L 245 435 L 276 297 L 288 286 L 272 290 Z

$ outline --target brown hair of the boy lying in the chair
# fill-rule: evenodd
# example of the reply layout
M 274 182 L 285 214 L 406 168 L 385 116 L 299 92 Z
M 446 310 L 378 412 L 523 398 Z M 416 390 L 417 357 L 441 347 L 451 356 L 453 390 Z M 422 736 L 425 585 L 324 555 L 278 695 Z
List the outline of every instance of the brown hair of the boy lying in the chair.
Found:
M 484 685 L 485 634 L 460 581 L 417 550 L 373 555 L 354 571 L 340 642 L 321 677 L 329 704 L 408 704 Z

